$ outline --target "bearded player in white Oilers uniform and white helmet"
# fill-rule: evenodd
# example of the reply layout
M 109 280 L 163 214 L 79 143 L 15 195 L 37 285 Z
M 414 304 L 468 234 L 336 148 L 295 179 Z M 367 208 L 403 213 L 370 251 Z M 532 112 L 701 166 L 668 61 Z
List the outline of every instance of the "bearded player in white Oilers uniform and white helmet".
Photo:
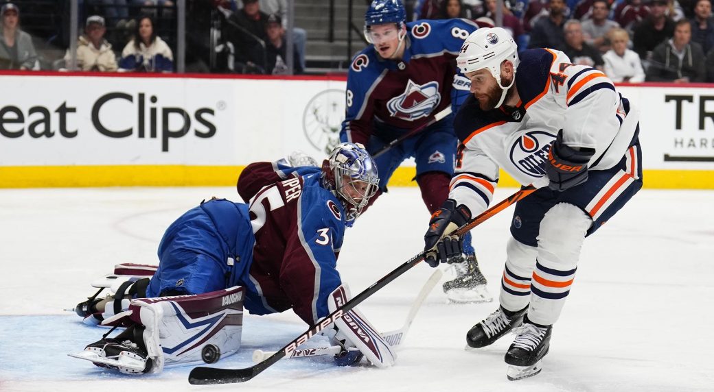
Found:
M 547 48 L 519 56 L 500 28 L 471 33 L 457 66 L 473 96 L 456 115 L 457 169 L 425 249 L 460 252 L 450 233 L 486 210 L 499 169 L 539 188 L 516 204 L 501 306 L 466 335 L 479 348 L 513 330 L 506 363 L 516 380 L 540 372 L 585 237 L 642 187 L 638 113 L 604 73 Z

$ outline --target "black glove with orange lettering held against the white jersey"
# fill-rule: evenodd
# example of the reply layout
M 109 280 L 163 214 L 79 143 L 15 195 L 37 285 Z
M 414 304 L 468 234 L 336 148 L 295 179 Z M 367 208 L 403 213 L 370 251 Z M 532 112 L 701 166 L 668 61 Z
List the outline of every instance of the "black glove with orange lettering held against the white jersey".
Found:
M 588 180 L 588 162 L 595 154 L 593 148 L 575 150 L 563 143 L 563 130 L 550 145 L 548 162 L 545 163 L 545 174 L 548 175 L 550 189 L 563 192 L 570 187 L 580 185 Z

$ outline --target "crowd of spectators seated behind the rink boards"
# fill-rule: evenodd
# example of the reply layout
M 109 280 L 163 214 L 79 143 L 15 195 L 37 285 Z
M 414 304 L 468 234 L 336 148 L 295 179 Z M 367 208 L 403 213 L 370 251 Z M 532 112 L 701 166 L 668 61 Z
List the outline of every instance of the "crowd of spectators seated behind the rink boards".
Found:
M 564 51 L 573 63 L 598 68 L 616 82 L 714 82 L 712 1 L 506 0 L 502 25 L 516 38 L 519 51 L 539 47 Z M 60 4 L 61 14 L 69 1 L 54 3 Z M 69 50 L 48 60 L 36 50 L 37 40 L 22 29 L 21 8 L 41 6 L 39 1 L 2 4 L 0 69 L 70 68 Z M 405 5 L 412 10 L 411 20 L 458 17 L 494 26 L 497 4 L 496 0 L 406 0 Z M 76 69 L 175 71 L 174 1 L 80 0 L 79 5 L 84 29 L 76 42 Z M 216 48 L 222 66 L 189 66 L 187 71 L 288 72 L 286 0 L 187 0 L 187 7 L 189 62 L 191 56 L 207 56 L 205 41 L 215 29 L 216 17 L 222 37 Z M 60 26 L 65 28 L 66 21 Z M 290 33 L 293 71 L 302 73 L 306 30 L 295 26 Z M 60 32 L 45 38 L 68 48 L 66 36 Z

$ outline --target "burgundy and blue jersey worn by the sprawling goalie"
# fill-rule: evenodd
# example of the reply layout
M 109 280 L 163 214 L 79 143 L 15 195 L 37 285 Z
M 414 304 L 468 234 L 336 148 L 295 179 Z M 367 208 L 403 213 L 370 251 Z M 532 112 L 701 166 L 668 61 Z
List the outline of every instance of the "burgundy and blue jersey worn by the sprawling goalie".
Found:
M 241 276 L 252 314 L 293 308 L 308 324 L 328 315 L 327 297 L 341 284 L 337 257 L 346 222 L 343 207 L 320 185 L 318 167 L 248 165 L 238 193 L 250 199 L 256 242 Z

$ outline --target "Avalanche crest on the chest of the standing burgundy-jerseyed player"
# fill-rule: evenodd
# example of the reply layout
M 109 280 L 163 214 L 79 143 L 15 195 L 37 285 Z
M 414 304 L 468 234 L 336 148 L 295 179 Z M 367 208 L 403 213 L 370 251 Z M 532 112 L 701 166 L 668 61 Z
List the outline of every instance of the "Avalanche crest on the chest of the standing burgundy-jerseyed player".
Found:
M 418 85 L 409 80 L 404 93 L 389 100 L 387 110 L 392 117 L 413 121 L 428 116 L 440 101 L 437 81 Z

